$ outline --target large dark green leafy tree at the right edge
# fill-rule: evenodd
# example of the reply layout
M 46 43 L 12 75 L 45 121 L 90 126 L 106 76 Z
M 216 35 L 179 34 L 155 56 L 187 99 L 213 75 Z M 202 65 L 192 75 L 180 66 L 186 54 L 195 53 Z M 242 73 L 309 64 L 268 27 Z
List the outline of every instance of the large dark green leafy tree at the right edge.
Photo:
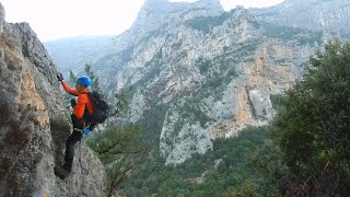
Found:
M 275 141 L 296 196 L 335 196 L 350 185 L 350 43 L 334 40 L 311 58 L 304 79 L 280 100 Z

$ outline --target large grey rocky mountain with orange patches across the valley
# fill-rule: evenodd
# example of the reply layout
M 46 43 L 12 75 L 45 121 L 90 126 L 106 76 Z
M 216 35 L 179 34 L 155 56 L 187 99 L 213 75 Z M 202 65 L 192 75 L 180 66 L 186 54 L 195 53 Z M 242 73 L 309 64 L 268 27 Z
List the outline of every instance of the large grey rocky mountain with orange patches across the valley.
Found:
M 348 3 L 289 0 L 224 12 L 217 0 L 148 0 L 95 71 L 109 95 L 130 99 L 126 119 L 143 123 L 166 164 L 177 164 L 210 150 L 212 139 L 273 119 L 271 96 L 302 77 L 325 30 L 350 32 Z M 319 13 L 327 28 L 317 27 Z

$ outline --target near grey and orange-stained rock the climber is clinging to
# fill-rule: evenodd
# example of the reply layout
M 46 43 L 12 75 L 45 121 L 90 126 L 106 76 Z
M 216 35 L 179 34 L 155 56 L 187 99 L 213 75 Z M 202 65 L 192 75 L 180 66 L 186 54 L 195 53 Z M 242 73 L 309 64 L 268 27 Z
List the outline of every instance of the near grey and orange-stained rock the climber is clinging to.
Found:
M 84 144 L 69 178 L 54 175 L 71 129 L 56 69 L 28 24 L 5 23 L 0 8 L 0 196 L 104 196 L 103 165 Z

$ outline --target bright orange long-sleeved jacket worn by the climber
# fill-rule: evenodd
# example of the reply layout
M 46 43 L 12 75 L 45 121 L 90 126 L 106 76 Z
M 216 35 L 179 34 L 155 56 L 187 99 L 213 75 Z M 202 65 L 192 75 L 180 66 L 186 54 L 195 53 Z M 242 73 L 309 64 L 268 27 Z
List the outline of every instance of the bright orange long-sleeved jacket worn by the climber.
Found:
M 89 114 L 94 113 L 94 105 L 92 101 L 90 100 L 88 94 L 84 94 L 89 92 L 88 89 L 84 89 L 81 93 L 79 93 L 75 89 L 71 89 L 65 81 L 62 81 L 61 84 L 67 93 L 78 96 L 77 105 L 73 107 L 73 114 L 78 119 L 83 117 L 85 107 L 88 107 Z

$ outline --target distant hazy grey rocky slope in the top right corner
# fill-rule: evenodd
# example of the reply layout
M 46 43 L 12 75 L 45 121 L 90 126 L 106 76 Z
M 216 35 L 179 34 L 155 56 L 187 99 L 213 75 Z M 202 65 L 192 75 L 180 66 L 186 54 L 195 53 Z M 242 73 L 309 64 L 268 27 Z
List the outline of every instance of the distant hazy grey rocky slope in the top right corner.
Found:
M 348 0 L 287 0 L 269 9 L 256 10 L 254 14 L 278 24 L 350 36 Z

